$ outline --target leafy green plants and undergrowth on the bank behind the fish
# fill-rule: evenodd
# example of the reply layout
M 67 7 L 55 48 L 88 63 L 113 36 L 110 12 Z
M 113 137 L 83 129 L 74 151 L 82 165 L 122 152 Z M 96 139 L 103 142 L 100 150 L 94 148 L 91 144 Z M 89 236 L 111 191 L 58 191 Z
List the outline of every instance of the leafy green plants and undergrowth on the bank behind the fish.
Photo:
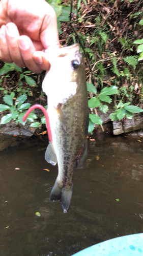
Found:
M 85 57 L 90 108 L 89 132 L 93 132 L 96 124 L 102 125 L 98 111 L 106 113 L 110 110 L 112 121 L 124 121 L 126 118 L 131 119 L 133 113 L 141 113 L 143 107 L 142 1 L 47 0 L 47 2 L 57 15 L 61 45 L 79 42 Z M 17 76 L 16 82 L 11 79 L 13 74 Z M 12 118 L 16 123 L 22 123 L 19 116 L 22 116 L 26 110 L 23 107 L 28 108 L 30 103 L 29 100 L 27 102 L 27 98 L 21 103 L 16 102 L 23 95 L 28 96 L 28 99 L 37 97 L 33 96 L 37 79 L 37 75 L 20 69 L 14 63 L 5 63 L 0 69 L 0 97 L 3 97 L 4 102 L 8 104 L 7 106 L 0 104 L 0 112 L 4 111 L 1 123 L 6 123 Z M 6 80 L 11 86 L 7 86 Z M 9 99 L 14 98 L 15 102 L 11 102 L 12 105 L 10 101 L 6 102 L 8 99 L 6 96 Z M 42 93 L 41 97 L 43 97 Z M 34 122 L 34 119 L 36 118 L 31 119 L 33 126 L 40 126 L 45 122 L 44 117 L 40 122 Z

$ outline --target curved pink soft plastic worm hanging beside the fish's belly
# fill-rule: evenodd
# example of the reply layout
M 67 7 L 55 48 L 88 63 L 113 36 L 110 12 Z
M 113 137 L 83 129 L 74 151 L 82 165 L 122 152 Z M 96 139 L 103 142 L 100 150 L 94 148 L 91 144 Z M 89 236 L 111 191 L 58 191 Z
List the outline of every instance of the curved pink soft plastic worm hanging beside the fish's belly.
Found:
M 48 132 L 48 137 L 49 137 L 49 141 L 52 141 L 52 135 L 51 135 L 51 129 L 50 129 L 50 122 L 49 122 L 49 116 L 47 111 L 45 110 L 44 106 L 40 105 L 40 104 L 35 104 L 33 106 L 31 106 L 30 109 L 27 110 L 27 112 L 25 113 L 25 115 L 22 118 L 22 121 L 25 122 L 26 118 L 28 117 L 28 115 L 30 115 L 30 113 L 35 110 L 35 109 L 40 109 L 43 111 L 45 117 L 46 117 L 46 126 L 47 126 L 47 132 Z

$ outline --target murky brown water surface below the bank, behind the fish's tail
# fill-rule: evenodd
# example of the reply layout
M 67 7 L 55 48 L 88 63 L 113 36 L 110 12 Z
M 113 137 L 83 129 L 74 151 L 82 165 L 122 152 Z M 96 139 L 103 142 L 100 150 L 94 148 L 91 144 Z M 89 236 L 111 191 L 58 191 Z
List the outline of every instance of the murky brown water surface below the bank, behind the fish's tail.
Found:
M 142 143 L 127 137 L 89 141 L 87 164 L 74 174 L 68 214 L 60 202 L 49 201 L 58 167 L 44 160 L 45 144 L 0 152 L 0 255 L 70 256 L 143 232 Z

